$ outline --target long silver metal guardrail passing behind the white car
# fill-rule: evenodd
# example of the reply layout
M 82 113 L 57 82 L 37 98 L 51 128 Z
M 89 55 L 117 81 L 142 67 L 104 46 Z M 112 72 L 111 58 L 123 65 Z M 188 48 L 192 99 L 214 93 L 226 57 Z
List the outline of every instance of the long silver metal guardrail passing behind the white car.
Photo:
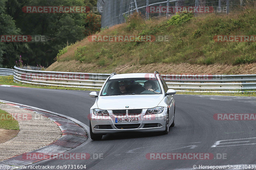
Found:
M 14 80 L 21 83 L 100 89 L 110 74 L 37 71 L 14 66 Z M 177 91 L 256 91 L 256 74 L 245 75 L 162 75 Z

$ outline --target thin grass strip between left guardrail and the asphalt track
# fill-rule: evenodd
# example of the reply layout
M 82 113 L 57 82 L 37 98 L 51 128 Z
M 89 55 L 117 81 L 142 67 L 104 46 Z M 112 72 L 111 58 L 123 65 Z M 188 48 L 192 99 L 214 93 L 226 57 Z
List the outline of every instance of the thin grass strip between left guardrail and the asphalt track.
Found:
M 15 83 L 13 81 L 13 76 L 0 76 L 0 84 L 20 86 L 20 87 L 30 87 L 30 88 L 40 88 L 40 89 L 63 89 L 63 90 L 89 90 L 89 91 L 99 91 L 98 89 L 85 89 L 85 88 L 72 88 L 72 87 L 58 87 L 58 86 L 40 86 L 40 85 L 31 85 L 25 83 Z

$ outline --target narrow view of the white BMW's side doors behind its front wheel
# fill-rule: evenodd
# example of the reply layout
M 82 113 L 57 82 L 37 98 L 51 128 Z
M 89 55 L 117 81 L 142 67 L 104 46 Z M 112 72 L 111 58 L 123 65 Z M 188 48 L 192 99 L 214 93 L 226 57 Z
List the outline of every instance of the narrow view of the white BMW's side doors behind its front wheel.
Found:
M 161 84 L 163 85 L 164 93 L 166 93 L 169 88 L 166 82 L 164 81 L 164 78 L 161 75 L 160 75 L 160 81 L 161 81 Z M 164 102 L 169 106 L 169 122 L 171 122 L 172 119 L 174 118 L 174 99 L 172 95 L 166 95 L 164 98 Z

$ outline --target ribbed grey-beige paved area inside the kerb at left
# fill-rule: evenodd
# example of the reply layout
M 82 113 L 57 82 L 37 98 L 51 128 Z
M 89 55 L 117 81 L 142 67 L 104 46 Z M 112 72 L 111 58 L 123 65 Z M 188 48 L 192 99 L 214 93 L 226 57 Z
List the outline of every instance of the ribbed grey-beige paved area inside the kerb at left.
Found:
M 49 145 L 62 136 L 56 123 L 34 111 L 10 103 L 0 103 L 0 109 L 11 114 L 20 125 L 16 137 L 0 144 L 0 161 Z

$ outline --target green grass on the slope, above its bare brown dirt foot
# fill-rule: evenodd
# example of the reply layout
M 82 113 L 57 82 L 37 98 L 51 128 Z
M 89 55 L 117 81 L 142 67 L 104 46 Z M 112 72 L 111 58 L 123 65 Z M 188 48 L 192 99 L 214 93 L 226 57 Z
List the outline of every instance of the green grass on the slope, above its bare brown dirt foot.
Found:
M 215 35 L 256 35 L 256 10 L 238 14 L 203 15 L 182 13 L 166 20 L 145 21 L 130 16 L 128 24 L 106 29 L 99 35 L 168 35 L 169 42 L 91 42 L 75 49 L 73 56 L 61 58 L 72 49 L 65 47 L 58 61 L 96 63 L 99 68 L 115 68 L 129 63 L 228 64 L 256 62 L 256 42 L 215 42 Z M 78 42 L 79 44 L 79 42 Z

